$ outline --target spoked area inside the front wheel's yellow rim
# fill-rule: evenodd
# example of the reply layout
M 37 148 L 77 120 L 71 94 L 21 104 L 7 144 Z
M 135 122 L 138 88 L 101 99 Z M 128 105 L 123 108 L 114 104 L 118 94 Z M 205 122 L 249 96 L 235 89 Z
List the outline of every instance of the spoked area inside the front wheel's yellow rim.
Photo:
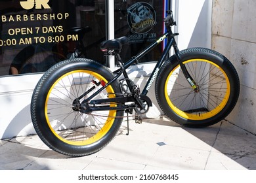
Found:
M 226 80 L 220 69 L 206 61 L 193 60 L 185 64 L 188 73 L 198 85 L 198 93 L 188 85 L 180 67 L 177 67 L 167 83 L 171 103 L 192 116 L 201 116 L 219 107 L 226 100 Z M 173 93 L 173 94 L 172 94 Z

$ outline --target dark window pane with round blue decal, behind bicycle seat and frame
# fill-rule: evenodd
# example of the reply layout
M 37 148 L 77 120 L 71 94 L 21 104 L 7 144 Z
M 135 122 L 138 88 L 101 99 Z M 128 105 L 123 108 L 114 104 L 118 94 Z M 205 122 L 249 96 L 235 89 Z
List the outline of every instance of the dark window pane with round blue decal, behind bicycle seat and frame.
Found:
M 131 44 L 121 52 L 124 61 L 138 54 L 163 33 L 163 14 L 167 1 L 115 0 L 115 37 L 127 36 Z M 154 48 L 140 62 L 156 61 L 162 46 Z

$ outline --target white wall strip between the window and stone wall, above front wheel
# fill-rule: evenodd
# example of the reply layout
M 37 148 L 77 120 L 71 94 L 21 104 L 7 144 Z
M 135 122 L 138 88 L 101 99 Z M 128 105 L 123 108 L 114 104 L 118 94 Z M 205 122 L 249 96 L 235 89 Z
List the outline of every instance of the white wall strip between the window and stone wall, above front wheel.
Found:
M 211 48 L 211 0 L 176 1 L 180 50 L 191 47 Z

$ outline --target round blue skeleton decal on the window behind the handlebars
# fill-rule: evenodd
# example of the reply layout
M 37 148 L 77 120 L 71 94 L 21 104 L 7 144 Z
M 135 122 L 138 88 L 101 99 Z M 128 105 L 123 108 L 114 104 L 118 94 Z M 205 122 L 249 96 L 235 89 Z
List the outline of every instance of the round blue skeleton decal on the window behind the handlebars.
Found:
M 147 33 L 156 25 L 156 11 L 148 3 L 135 3 L 127 12 L 127 21 L 132 33 Z

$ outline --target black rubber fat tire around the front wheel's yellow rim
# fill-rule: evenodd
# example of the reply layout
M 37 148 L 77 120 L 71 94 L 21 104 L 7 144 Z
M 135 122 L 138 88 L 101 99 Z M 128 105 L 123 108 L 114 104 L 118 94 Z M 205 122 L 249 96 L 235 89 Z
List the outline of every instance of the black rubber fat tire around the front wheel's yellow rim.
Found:
M 167 61 L 163 64 L 156 78 L 156 99 L 158 104 L 160 105 L 161 110 L 164 114 L 176 122 L 177 124 L 184 125 L 186 127 L 206 127 L 209 125 L 216 124 L 223 120 L 234 108 L 236 102 L 238 101 L 239 93 L 240 93 L 240 81 L 238 77 L 238 73 L 236 69 L 232 65 L 232 63 L 225 58 L 219 52 L 215 52 L 214 50 L 210 50 L 207 48 L 188 48 L 186 50 L 182 50 L 180 52 L 182 61 L 188 61 L 190 59 L 206 59 L 211 61 L 221 67 L 224 73 L 228 76 L 230 82 L 230 96 L 224 108 L 218 112 L 215 116 L 211 116 L 211 118 L 207 118 L 204 120 L 191 120 L 189 118 L 183 118 L 169 107 L 165 97 L 165 82 L 167 80 L 167 76 L 177 65 L 179 62 L 177 61 L 176 56 L 171 56 L 171 58 L 167 59 Z

